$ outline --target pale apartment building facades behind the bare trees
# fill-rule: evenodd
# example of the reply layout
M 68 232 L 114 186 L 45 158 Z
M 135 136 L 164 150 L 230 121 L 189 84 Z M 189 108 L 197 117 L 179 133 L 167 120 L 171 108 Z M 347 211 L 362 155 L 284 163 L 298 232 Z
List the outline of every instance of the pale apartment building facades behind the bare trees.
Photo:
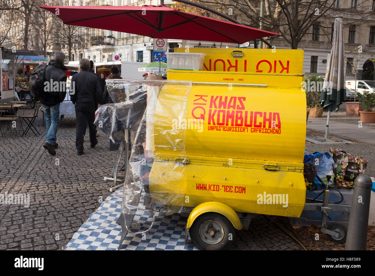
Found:
M 160 5 L 160 0 L 44 0 L 50 5 L 86 5 L 86 6 L 141 6 L 141 5 Z M 324 76 L 327 65 L 327 55 L 332 44 L 331 36 L 333 23 L 336 15 L 341 15 L 344 23 L 344 39 L 346 53 L 347 79 L 354 78 L 354 70 L 357 69 L 358 78 L 375 80 L 374 62 L 375 56 L 375 0 L 332 0 L 332 11 L 326 16 L 320 17 L 311 27 L 303 39 L 299 42 L 298 49 L 305 50 L 303 62 L 303 72 L 306 74 L 319 74 Z M 65 3 L 67 2 L 67 3 Z M 173 4 L 173 1 L 165 0 L 165 5 Z M 260 9 L 259 5 L 257 9 Z M 365 15 L 365 16 L 364 16 Z M 303 16 L 303 14 L 301 14 Z M 1 27 L 6 23 L 6 18 L 0 18 Z M 241 21 L 238 17 L 237 20 Z M 126 23 L 124 23 L 126 24 Z M 114 32 L 110 30 L 92 29 L 79 27 L 79 43 L 74 43 L 71 47 L 71 60 L 78 61 L 85 57 L 93 60 L 96 64 L 114 61 L 118 55 L 119 60 L 129 60 L 128 54 L 130 45 L 133 47 L 133 60 L 139 62 L 151 62 L 153 53 L 153 39 L 145 36 L 133 35 L 131 33 Z M 3 42 L 4 47 L 10 48 L 11 45 L 22 43 L 23 22 L 13 24 L 10 30 L 12 41 Z M 42 50 L 40 39 L 37 34 L 31 30 L 29 32 L 29 49 Z M 14 39 L 17 38 L 17 39 Z M 20 39 L 21 38 L 21 39 Z M 61 38 L 52 37 L 48 41 L 48 52 L 62 49 L 69 53 L 69 47 Z M 252 43 L 252 42 L 251 42 Z M 271 42 L 276 48 L 291 48 L 290 44 L 284 38 L 274 38 Z M 9 44 L 9 45 L 8 45 Z M 17 44 L 17 45 L 18 45 Z M 17 47 L 16 45 L 16 47 Z M 228 44 L 212 41 L 184 41 L 169 39 L 169 51 L 173 47 L 237 47 L 237 44 Z M 20 45 L 18 45 L 20 47 Z M 359 53 L 359 49 L 362 53 Z

